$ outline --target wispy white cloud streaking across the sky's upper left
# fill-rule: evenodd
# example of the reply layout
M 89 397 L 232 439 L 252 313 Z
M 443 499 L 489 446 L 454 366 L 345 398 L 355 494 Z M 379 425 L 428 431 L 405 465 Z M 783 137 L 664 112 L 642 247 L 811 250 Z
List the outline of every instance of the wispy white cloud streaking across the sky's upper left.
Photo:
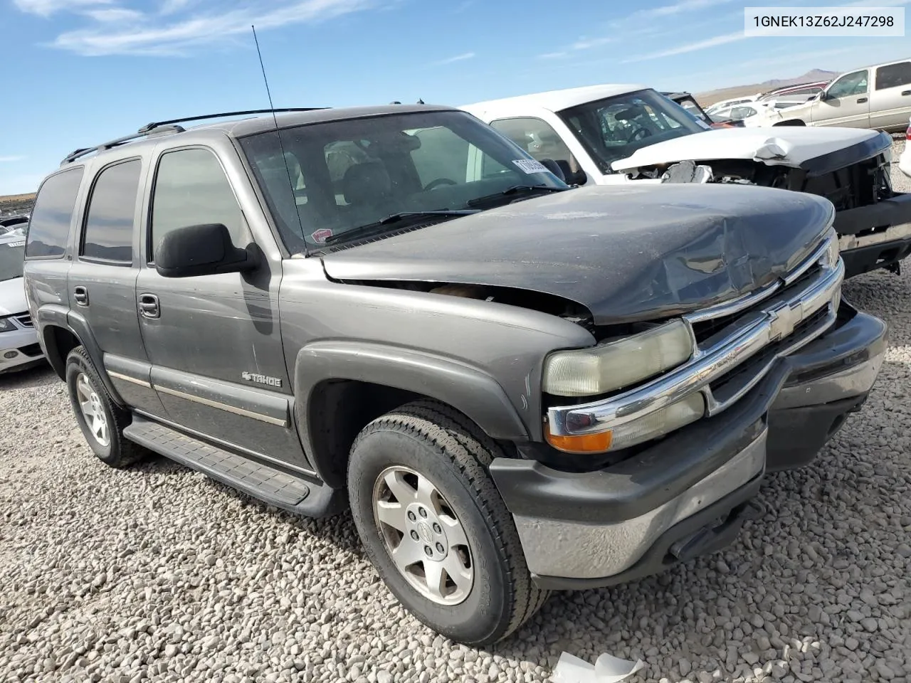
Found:
M 194 0 L 164 0 L 160 14 L 111 6 L 111 0 L 15 0 L 26 12 L 48 15 L 68 10 L 87 19 L 85 27 L 56 36 L 51 46 L 84 56 L 177 56 L 257 30 L 316 24 L 391 0 L 221 0 L 200 7 Z

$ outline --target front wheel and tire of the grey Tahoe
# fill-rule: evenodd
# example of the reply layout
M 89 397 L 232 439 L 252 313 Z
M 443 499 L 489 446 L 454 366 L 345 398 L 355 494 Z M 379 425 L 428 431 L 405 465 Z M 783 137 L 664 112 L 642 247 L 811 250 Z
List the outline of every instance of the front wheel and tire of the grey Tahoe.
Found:
M 487 473 L 498 455 L 502 451 L 496 442 L 465 415 L 442 403 L 418 401 L 364 427 L 348 465 L 354 524 L 386 586 L 428 627 L 468 645 L 508 637 L 548 597 L 548 591 L 532 583 L 512 515 Z M 434 487 L 436 496 L 430 497 L 435 505 L 423 505 L 427 495 L 419 492 L 422 481 Z M 393 488 L 404 494 L 394 495 Z M 397 515 L 395 524 L 404 529 L 380 522 L 374 496 L 377 510 L 384 506 Z M 408 516 L 421 513 L 422 506 L 429 510 L 426 518 Z M 406 547 L 407 536 L 414 541 L 408 547 L 417 548 L 404 562 L 415 553 L 421 559 L 400 569 L 393 553 Z M 395 545 L 399 537 L 401 546 Z M 460 539 L 466 545 L 458 545 Z M 435 555 L 428 559 L 422 551 Z M 442 582 L 420 576 L 429 568 L 435 578 L 434 566 L 448 570 Z M 456 582 L 453 577 L 459 572 Z M 432 584 L 445 586 L 434 590 Z

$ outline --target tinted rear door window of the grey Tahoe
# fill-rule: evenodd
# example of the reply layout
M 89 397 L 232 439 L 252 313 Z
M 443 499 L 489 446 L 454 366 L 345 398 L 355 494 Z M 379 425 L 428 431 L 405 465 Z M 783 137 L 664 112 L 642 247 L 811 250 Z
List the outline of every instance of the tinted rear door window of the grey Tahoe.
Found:
M 141 170 L 142 162 L 133 159 L 108 166 L 98 175 L 88 204 L 82 256 L 132 263 Z

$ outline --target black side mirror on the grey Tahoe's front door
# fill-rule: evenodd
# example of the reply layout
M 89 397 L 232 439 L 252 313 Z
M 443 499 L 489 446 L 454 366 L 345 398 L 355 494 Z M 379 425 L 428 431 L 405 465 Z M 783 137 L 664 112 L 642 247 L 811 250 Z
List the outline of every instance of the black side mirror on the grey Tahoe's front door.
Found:
M 155 250 L 155 270 L 163 278 L 189 278 L 252 270 L 259 265 L 251 250 L 235 247 L 221 223 L 171 230 Z

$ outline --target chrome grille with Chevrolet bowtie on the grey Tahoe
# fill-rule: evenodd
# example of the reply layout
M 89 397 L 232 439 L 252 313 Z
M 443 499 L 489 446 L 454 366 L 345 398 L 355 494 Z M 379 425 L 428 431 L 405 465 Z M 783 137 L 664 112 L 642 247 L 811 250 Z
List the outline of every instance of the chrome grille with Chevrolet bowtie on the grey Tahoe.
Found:
M 596 403 L 548 409 L 551 433 L 613 429 L 700 392 L 707 416 L 721 413 L 760 382 L 773 362 L 812 342 L 835 321 L 844 263 L 830 229 L 809 257 L 782 278 L 732 301 L 683 315 L 691 359 L 670 372 Z

